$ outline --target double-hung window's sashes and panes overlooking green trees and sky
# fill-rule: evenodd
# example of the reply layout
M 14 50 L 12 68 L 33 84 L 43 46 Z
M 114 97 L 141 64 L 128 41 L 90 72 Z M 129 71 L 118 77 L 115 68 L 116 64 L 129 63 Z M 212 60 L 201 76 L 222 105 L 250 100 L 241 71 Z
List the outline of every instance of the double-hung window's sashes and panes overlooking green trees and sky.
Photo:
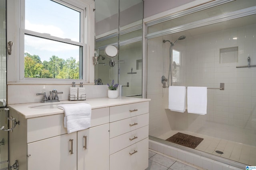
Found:
M 84 80 L 86 7 L 69 0 L 22 3 L 20 79 Z

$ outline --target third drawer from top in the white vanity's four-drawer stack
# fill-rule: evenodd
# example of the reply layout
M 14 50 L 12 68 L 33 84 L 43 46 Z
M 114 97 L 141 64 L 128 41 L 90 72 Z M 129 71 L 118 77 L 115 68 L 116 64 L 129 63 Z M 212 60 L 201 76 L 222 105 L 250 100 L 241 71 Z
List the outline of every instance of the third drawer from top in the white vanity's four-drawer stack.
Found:
M 110 154 L 148 137 L 148 125 L 110 139 Z

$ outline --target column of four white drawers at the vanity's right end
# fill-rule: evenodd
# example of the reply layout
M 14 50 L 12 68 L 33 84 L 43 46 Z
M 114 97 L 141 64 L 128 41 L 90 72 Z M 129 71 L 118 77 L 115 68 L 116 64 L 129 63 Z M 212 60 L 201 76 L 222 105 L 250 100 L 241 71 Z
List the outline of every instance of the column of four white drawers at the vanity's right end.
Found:
M 110 170 L 148 167 L 148 102 L 110 107 Z

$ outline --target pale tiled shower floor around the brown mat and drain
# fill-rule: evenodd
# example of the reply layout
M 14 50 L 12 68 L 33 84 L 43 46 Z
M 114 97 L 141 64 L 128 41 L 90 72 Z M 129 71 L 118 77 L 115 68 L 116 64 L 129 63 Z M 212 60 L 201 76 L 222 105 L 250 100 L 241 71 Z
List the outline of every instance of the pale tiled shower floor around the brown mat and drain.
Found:
M 178 132 L 204 138 L 204 140 L 196 147 L 196 150 L 201 150 L 203 152 L 234 160 L 246 165 L 256 165 L 256 147 L 253 146 L 228 141 L 225 139 L 209 137 L 207 135 L 201 135 L 189 131 L 170 131 L 158 138 L 165 140 Z M 223 154 L 217 153 L 216 150 L 223 152 Z

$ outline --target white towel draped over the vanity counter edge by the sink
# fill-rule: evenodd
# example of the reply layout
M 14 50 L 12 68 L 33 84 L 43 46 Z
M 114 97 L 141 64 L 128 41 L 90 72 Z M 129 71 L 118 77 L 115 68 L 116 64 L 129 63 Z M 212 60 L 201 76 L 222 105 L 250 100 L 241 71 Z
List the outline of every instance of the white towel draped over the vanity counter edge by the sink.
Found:
M 64 110 L 64 127 L 68 133 L 84 130 L 90 127 L 92 107 L 90 104 L 60 104 L 59 109 Z

